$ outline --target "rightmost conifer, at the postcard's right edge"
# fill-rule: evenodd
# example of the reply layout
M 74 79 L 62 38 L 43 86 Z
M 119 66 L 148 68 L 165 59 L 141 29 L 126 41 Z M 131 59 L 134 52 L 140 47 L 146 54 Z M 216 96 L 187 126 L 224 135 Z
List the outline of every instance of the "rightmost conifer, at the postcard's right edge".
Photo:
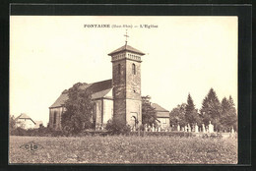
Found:
M 229 99 L 225 97 L 222 100 L 222 130 L 230 130 L 232 127 L 237 130 L 237 115 L 234 107 L 233 99 L 229 96 Z

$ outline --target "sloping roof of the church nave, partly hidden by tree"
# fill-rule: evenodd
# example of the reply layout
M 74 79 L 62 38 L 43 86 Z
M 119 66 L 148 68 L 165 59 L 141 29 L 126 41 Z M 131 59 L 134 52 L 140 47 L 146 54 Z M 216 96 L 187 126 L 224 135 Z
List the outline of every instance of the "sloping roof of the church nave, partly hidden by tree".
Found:
M 102 82 L 97 82 L 93 84 L 83 84 L 80 85 L 81 89 L 88 89 L 92 91 L 92 99 L 102 98 L 104 97 L 111 89 L 112 89 L 112 80 L 106 80 Z M 68 99 L 68 90 L 64 90 L 61 95 L 57 98 L 57 100 L 49 107 L 60 107 L 65 101 Z

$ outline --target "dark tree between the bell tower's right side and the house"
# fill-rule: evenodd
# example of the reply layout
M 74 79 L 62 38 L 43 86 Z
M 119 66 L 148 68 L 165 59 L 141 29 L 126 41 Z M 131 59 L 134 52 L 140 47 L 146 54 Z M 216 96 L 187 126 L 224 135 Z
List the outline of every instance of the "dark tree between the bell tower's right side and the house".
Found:
M 157 111 L 152 107 L 150 102 L 150 96 L 142 97 L 142 124 L 145 125 L 157 125 Z

